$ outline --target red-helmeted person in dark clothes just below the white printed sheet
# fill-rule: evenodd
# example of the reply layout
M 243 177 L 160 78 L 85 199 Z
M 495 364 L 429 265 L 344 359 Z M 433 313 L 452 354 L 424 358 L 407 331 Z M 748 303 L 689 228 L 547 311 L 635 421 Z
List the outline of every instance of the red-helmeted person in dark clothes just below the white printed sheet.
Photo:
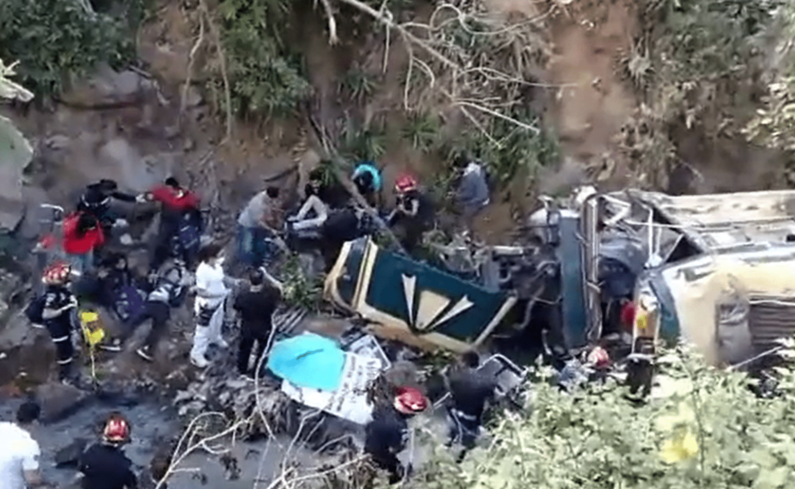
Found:
M 413 387 L 398 387 L 392 405 L 379 404 L 373 418 L 365 426 L 364 452 L 373 463 L 390 473 L 390 484 L 408 475 L 411 466 L 403 467 L 397 454 L 405 448 L 409 438 L 410 417 L 428 407 L 428 398 Z

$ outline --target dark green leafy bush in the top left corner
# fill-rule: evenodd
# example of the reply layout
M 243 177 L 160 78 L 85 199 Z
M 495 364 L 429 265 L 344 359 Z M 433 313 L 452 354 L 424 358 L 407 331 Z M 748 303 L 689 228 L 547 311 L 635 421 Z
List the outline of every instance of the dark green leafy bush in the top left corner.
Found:
M 25 86 L 53 95 L 70 76 L 85 76 L 102 63 L 120 68 L 132 60 L 130 28 L 110 15 L 88 13 L 76 0 L 3 0 L 0 57 L 20 61 Z

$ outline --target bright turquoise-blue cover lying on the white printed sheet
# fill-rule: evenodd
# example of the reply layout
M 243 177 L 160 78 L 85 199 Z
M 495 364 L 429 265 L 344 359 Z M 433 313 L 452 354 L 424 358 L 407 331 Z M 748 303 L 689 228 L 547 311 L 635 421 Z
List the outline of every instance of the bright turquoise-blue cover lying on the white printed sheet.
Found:
M 273 345 L 268 368 L 298 387 L 336 390 L 342 381 L 345 352 L 323 336 L 304 333 Z

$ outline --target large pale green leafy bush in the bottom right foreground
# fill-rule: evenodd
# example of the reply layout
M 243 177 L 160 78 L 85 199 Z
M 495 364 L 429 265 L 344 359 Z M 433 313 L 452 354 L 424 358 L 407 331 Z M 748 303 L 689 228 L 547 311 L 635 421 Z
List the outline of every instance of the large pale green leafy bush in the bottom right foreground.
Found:
M 783 395 L 760 398 L 747 375 L 708 367 L 686 347 L 659 361 L 659 391 L 643 404 L 611 380 L 567 394 L 542 378 L 524 412 L 494 420 L 483 448 L 455 464 L 439 446 L 409 487 L 793 487 L 792 369 L 778 368 Z

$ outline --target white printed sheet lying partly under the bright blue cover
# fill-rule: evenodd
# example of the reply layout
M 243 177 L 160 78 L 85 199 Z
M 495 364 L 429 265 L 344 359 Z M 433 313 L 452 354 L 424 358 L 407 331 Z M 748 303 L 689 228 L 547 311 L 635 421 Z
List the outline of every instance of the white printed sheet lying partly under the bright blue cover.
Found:
M 302 388 L 285 380 L 281 382 L 281 391 L 305 406 L 365 425 L 373 412 L 373 406 L 367 402 L 367 384 L 378 377 L 383 367 L 379 359 L 346 352 L 343 376 L 337 390 Z

